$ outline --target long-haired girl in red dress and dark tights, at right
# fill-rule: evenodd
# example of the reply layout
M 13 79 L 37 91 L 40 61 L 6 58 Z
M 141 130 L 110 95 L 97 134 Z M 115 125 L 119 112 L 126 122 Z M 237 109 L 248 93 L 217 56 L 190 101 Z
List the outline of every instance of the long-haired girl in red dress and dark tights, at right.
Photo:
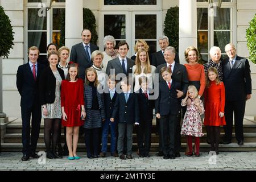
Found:
M 205 88 L 205 118 L 204 125 L 209 127 L 210 148 L 218 154 L 220 143 L 220 126 L 226 125 L 224 117 L 225 87 L 223 82 L 218 80 L 216 68 L 208 69 L 207 86 Z

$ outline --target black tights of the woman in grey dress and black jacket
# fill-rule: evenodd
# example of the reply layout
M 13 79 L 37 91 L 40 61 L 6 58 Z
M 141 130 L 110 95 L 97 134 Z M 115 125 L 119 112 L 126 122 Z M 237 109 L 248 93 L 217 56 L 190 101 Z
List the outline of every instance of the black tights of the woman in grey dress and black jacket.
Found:
M 59 118 L 44 119 L 44 142 L 46 143 L 47 152 L 55 153 L 57 141 L 59 139 L 59 128 L 60 128 Z M 51 150 L 51 144 L 52 144 L 52 150 Z

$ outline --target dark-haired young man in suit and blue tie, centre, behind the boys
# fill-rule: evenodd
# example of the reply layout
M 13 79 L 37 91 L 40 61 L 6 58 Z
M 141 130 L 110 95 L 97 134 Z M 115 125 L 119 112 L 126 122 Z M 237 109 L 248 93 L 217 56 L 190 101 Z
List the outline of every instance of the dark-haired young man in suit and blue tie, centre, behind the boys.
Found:
M 118 43 L 117 49 L 119 56 L 108 62 L 106 74 L 110 75 L 110 70 L 114 69 L 113 74 L 115 75 L 118 75 L 118 73 L 124 73 L 126 76 L 129 76 L 129 73 L 132 73 L 132 68 L 135 64 L 134 60 L 126 57 L 129 51 L 129 46 L 126 42 L 121 41 Z

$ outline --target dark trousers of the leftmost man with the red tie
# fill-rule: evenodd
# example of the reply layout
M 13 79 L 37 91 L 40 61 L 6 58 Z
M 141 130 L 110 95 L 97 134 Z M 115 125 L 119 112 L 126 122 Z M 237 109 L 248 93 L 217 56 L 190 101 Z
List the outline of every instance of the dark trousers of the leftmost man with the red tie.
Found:
M 36 145 L 38 144 L 38 137 L 40 133 L 41 125 L 41 106 L 34 103 L 30 109 L 24 109 L 21 107 L 22 114 L 22 153 L 23 155 L 30 155 L 31 152 L 35 152 Z M 30 118 L 31 119 L 31 136 L 30 136 Z

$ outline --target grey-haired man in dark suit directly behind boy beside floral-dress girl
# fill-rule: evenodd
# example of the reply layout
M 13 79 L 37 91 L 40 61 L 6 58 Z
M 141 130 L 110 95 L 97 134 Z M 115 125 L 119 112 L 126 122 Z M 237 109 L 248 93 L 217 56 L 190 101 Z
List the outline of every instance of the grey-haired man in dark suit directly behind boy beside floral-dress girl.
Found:
M 172 80 L 175 82 L 179 82 L 181 84 L 181 90 L 177 91 L 177 98 L 183 97 L 187 93 L 188 89 L 188 74 L 187 69 L 184 65 L 176 63 L 175 59 L 175 48 L 167 47 L 164 51 L 164 60 L 166 60 L 165 64 L 161 64 L 156 68 L 156 73 L 159 73 L 159 81 L 164 81 L 162 75 L 160 74 L 160 70 L 163 67 L 168 67 L 172 70 Z M 181 115 L 179 114 L 178 121 L 181 120 Z M 181 148 L 181 140 L 180 140 L 180 122 L 177 122 L 177 132 L 175 136 L 175 157 L 180 156 L 180 148 Z M 159 152 L 156 154 L 157 156 L 163 155 L 162 143 L 159 141 Z

